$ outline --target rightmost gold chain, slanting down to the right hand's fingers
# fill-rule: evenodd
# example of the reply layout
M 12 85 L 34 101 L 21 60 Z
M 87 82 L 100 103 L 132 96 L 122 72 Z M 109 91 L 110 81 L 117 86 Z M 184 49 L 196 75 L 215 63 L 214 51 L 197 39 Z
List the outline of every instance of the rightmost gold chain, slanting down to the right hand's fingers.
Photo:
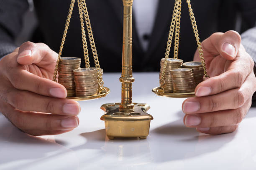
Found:
M 198 30 L 197 30 L 197 25 L 196 25 L 197 23 L 195 21 L 195 16 L 194 16 L 193 10 L 191 8 L 190 0 L 187 0 L 187 6 L 189 8 L 190 20 L 191 20 L 192 28 L 194 30 L 196 41 L 197 41 L 197 46 L 198 46 L 197 49 L 198 49 L 199 56 L 200 56 L 200 59 L 201 59 L 201 62 L 202 62 L 202 66 L 204 68 L 204 74 L 205 74 L 204 75 L 204 80 L 205 80 L 206 77 L 210 77 L 210 76 L 207 75 L 207 71 L 206 71 L 206 67 L 205 67 L 205 57 L 204 57 L 201 42 L 200 42 L 200 39 L 199 39 L 199 34 L 198 34 Z

